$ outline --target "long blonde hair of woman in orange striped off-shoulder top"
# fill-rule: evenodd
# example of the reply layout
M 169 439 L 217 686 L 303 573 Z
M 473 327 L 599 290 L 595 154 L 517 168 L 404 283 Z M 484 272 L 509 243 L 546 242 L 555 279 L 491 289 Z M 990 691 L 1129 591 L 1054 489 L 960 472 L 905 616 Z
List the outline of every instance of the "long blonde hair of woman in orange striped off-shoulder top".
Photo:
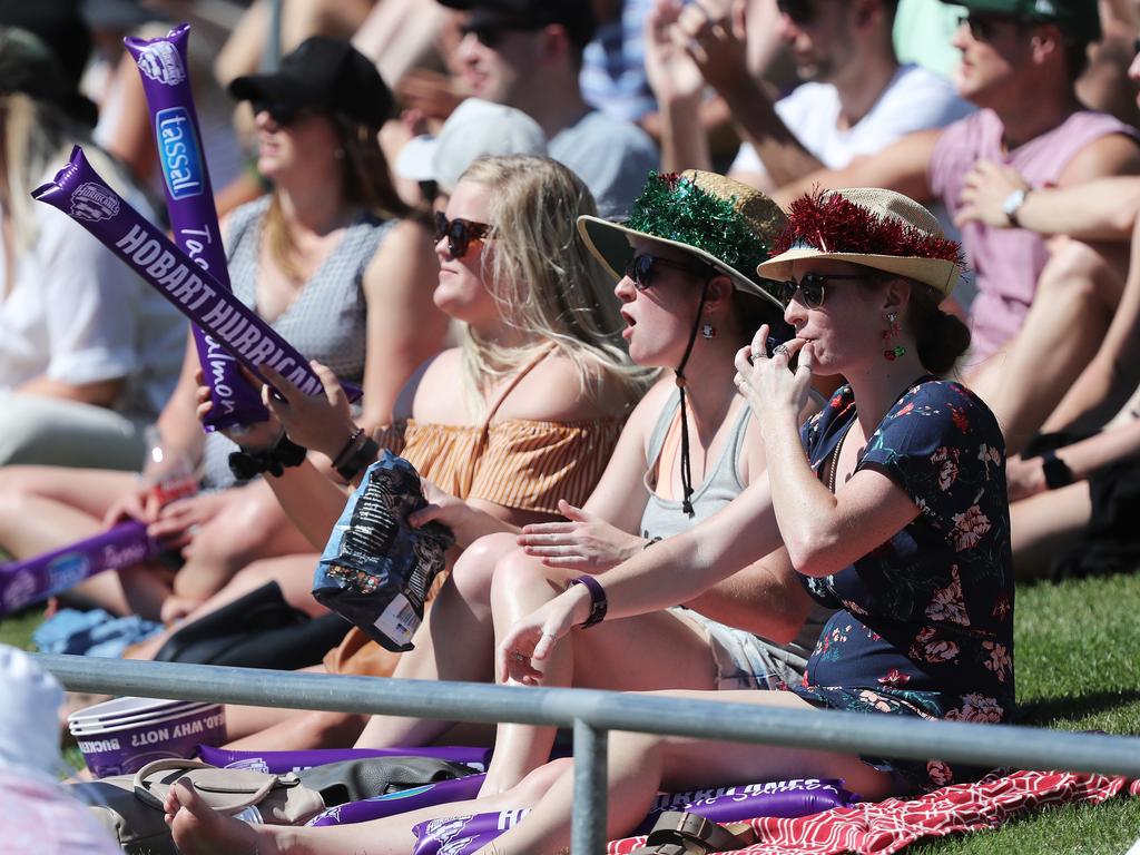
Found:
M 483 254 L 481 272 L 503 321 L 528 339 L 521 347 L 504 347 L 463 329 L 469 404 L 480 410 L 489 385 L 549 343 L 578 368 L 583 393 L 595 393 L 608 376 L 625 386 L 630 400 L 640 397 L 654 372 L 629 361 L 610 276 L 578 237 L 578 217 L 597 210 L 581 179 L 549 157 L 502 155 L 475 160 L 459 180 L 495 190 L 487 235 L 495 251 Z

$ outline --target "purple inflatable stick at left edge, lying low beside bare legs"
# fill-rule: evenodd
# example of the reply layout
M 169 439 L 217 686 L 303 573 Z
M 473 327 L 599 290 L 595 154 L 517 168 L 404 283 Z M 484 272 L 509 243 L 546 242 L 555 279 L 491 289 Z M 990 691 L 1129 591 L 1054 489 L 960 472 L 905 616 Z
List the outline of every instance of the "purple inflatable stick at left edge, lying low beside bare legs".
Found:
M 0 564 L 0 617 L 79 585 L 104 570 L 153 559 L 162 551 L 146 524 L 131 520 L 34 559 Z

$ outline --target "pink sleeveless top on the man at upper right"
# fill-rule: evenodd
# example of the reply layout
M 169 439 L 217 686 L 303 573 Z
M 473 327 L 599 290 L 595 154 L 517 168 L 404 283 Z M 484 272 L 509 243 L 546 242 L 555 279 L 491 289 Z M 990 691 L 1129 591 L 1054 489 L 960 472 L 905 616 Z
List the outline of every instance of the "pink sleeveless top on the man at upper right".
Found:
M 1131 127 L 1106 113 L 1080 111 L 1057 128 L 1011 152 L 1002 150 L 1001 120 L 992 109 L 950 125 L 930 158 L 930 188 L 951 214 L 967 173 L 979 160 L 1013 166 L 1033 187 L 1056 184 L 1066 164 L 1090 142 L 1110 133 L 1135 138 Z M 977 272 L 978 295 L 970 309 L 971 353 L 983 359 L 1021 327 L 1045 266 L 1044 238 L 1024 229 L 992 229 L 971 223 L 962 229 L 967 263 Z

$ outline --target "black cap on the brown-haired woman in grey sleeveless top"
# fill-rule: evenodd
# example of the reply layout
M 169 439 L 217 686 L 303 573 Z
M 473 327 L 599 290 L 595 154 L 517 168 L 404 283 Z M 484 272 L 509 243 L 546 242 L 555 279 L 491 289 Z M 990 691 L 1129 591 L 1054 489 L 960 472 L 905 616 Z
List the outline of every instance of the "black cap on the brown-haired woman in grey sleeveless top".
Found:
M 282 57 L 271 74 L 247 74 L 229 84 L 243 101 L 269 101 L 315 107 L 369 128 L 380 128 L 391 115 L 392 92 L 376 66 L 343 39 L 315 35 Z

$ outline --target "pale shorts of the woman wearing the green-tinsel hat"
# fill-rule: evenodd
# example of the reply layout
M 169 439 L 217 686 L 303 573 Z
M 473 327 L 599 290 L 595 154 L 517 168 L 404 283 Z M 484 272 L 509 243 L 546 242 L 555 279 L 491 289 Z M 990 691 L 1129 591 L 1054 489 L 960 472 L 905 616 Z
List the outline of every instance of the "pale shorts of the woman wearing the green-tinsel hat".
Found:
M 684 606 L 669 609 L 693 626 L 708 642 L 716 665 L 717 690 L 783 690 L 798 685 L 807 659 L 797 652 L 743 629 L 706 618 Z

